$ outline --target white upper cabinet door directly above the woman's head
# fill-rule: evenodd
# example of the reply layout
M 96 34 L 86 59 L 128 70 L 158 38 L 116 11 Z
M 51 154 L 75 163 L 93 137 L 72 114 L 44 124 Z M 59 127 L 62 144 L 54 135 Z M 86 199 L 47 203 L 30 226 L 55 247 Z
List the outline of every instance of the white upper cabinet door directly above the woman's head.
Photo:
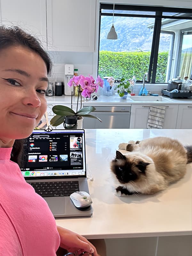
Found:
M 0 0 L 0 8 L 1 23 L 25 29 L 47 49 L 46 0 Z

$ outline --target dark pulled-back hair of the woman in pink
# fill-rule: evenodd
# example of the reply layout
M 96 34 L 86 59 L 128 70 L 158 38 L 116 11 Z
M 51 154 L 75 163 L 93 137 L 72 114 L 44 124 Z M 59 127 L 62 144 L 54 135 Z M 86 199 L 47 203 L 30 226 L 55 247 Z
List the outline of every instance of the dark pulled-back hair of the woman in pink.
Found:
M 44 60 L 47 74 L 51 74 L 52 61 L 47 52 L 44 51 L 39 39 L 26 33 L 21 28 L 0 26 L 0 51 L 10 46 L 24 46 L 32 52 L 36 52 Z M 11 160 L 19 164 L 20 167 L 22 165 L 23 142 L 23 139 L 15 140 L 11 154 Z

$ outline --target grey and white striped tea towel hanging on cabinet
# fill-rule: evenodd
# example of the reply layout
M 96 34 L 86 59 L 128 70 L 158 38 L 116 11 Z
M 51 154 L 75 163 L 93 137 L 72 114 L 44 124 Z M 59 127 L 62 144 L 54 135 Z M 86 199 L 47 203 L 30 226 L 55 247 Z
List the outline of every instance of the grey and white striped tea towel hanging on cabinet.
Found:
M 149 117 L 147 128 L 148 129 L 162 129 L 164 124 L 164 115 L 165 115 L 164 106 L 151 106 L 149 108 Z

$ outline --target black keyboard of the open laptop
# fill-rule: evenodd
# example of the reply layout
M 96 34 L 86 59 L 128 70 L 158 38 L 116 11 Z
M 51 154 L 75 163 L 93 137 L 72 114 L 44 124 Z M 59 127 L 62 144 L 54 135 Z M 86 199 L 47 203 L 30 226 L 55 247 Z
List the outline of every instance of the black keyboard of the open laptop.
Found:
M 78 181 L 29 182 L 29 184 L 42 197 L 70 196 L 72 193 L 79 191 Z

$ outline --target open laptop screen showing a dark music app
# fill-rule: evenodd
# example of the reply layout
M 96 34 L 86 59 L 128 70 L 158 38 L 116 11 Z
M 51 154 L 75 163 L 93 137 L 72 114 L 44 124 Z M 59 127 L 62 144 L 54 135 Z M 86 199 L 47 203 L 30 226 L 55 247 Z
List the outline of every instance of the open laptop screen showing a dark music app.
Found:
M 34 130 L 24 152 L 25 179 L 86 177 L 84 130 Z

